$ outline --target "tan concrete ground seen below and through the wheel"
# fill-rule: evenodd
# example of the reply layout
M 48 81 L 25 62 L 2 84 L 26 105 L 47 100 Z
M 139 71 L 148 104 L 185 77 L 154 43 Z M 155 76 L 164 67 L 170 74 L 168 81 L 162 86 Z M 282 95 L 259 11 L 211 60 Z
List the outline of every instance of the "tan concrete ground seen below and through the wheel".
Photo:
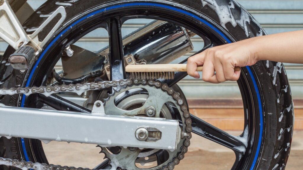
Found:
M 240 131 L 229 131 L 239 135 Z M 50 142 L 43 144 L 49 163 L 94 168 L 102 162 L 104 155 L 100 148 L 91 144 Z M 234 153 L 216 143 L 194 135 L 185 158 L 175 167 L 176 170 L 220 169 L 229 170 L 235 160 Z M 303 131 L 295 131 L 286 170 L 297 170 L 303 166 Z M 148 166 L 148 164 L 145 164 Z

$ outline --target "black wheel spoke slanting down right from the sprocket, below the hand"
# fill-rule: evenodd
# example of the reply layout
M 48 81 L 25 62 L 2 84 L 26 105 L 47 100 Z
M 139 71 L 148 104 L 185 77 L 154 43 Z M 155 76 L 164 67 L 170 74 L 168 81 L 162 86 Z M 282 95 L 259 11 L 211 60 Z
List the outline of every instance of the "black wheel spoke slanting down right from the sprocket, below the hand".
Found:
M 196 116 L 191 115 L 191 120 L 193 122 L 193 133 L 232 149 L 236 153 L 243 154 L 245 152 L 245 144 L 237 139 L 237 137 L 212 126 Z

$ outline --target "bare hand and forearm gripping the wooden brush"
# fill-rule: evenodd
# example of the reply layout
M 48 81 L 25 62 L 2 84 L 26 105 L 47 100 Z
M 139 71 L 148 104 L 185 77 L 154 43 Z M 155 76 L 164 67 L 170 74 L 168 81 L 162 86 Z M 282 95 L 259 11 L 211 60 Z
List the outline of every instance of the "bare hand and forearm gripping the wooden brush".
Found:
M 188 58 L 187 72 L 199 78 L 196 68 L 204 65 L 204 81 L 235 81 L 240 77 L 240 71 L 235 71 L 235 67 L 251 66 L 258 60 L 303 64 L 303 31 L 249 38 L 209 48 Z

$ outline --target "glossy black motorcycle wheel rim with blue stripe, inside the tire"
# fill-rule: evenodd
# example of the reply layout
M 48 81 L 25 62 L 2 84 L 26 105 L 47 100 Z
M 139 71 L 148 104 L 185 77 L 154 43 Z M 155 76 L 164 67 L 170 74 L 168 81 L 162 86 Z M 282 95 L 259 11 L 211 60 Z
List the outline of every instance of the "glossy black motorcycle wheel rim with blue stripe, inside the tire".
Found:
M 213 47 L 220 44 L 230 43 L 234 41 L 232 36 L 225 32 L 219 25 L 213 23 L 208 18 L 204 16 L 197 16 L 196 11 L 189 9 L 188 7 L 175 7 L 175 4 L 170 4 L 167 2 L 159 3 L 147 3 L 147 2 L 137 2 L 137 3 L 122 3 L 119 5 L 111 5 L 106 7 L 107 10 L 104 11 L 105 7 L 95 8 L 95 10 L 87 12 L 84 14 L 83 18 L 74 19 L 71 23 L 72 28 L 66 27 L 65 30 L 59 30 L 58 32 L 63 32 L 57 34 L 58 36 L 50 41 L 49 45 L 44 49 L 43 53 L 40 55 L 38 62 L 36 63 L 27 77 L 28 81 L 24 86 L 39 86 L 44 84 L 43 78 L 45 75 L 49 75 L 51 69 L 61 57 L 60 51 L 63 50 L 62 41 L 65 38 L 78 40 L 88 32 L 107 25 L 109 34 L 113 33 L 115 36 L 110 36 L 110 55 L 115 56 L 111 58 L 112 66 L 122 65 L 123 49 L 122 49 L 122 37 L 121 37 L 121 25 L 126 19 L 131 18 L 151 18 L 163 21 L 169 21 L 187 28 L 205 40 L 205 47 L 201 50 L 205 50 L 209 47 Z M 182 9 L 183 8 L 183 9 Z M 184 10 L 184 8 L 186 10 Z M 103 11 L 102 11 L 103 9 Z M 146 14 L 148 10 L 148 14 Z M 127 14 L 127 16 L 125 15 Z M 154 15 L 153 15 L 154 14 Z M 185 15 L 186 14 L 186 15 Z M 86 16 L 85 16 L 86 15 Z M 93 15 L 93 16 L 92 16 Z M 89 17 L 92 16 L 92 17 Z M 123 16 L 123 17 L 121 17 Z M 89 19 L 85 19 L 89 18 Z M 102 18 L 102 19 L 100 19 Z M 199 19 L 200 18 L 200 19 Z M 203 22 L 202 22 L 203 20 Z M 101 22 L 105 21 L 105 22 Z M 205 22 L 204 22 L 205 21 Z M 77 23 L 77 24 L 75 24 Z M 70 28 L 70 29 L 69 29 Z M 62 34 L 62 37 L 61 37 Z M 211 38 L 210 38 L 211 37 Z M 115 50 L 113 47 L 118 47 Z M 199 51 L 199 52 L 201 52 Z M 48 54 L 47 54 L 47 53 Z M 56 56 L 56 57 L 51 57 Z M 50 65 L 48 61 L 53 61 Z M 185 63 L 184 60 L 182 63 Z M 112 67 L 114 68 L 114 67 Z M 115 70 L 112 70 L 113 72 Z M 124 73 L 124 71 L 123 71 Z M 261 107 L 261 96 L 258 90 L 258 85 L 255 80 L 254 71 L 250 67 L 242 69 L 241 78 L 238 81 L 238 85 L 241 91 L 245 112 L 248 112 L 248 116 L 245 114 L 245 128 L 248 127 L 248 141 L 241 142 L 236 137 L 215 128 L 214 126 L 204 122 L 203 120 L 192 116 L 193 120 L 193 132 L 224 145 L 236 154 L 236 161 L 232 169 L 253 169 L 258 159 L 258 155 L 261 150 L 261 137 L 263 134 L 263 117 L 262 117 L 262 107 Z M 185 77 L 186 74 L 176 74 L 176 79 L 173 81 L 165 81 L 169 85 L 173 85 Z M 124 79 L 125 74 L 118 74 L 115 77 L 111 76 L 112 79 Z M 41 95 L 32 95 L 30 97 L 22 97 L 21 107 L 37 107 L 37 98 L 43 99 Z M 63 100 L 58 99 L 57 96 L 52 96 L 48 100 Z M 65 101 L 69 108 L 73 108 L 74 111 L 89 112 L 90 110 L 77 106 L 71 102 Z M 67 106 L 62 106 L 60 109 L 64 110 Z M 261 113 L 261 114 L 260 114 Z M 202 130 L 202 131 L 201 131 Z M 242 136 L 244 133 L 242 134 Z M 21 139 L 23 152 L 25 160 L 31 160 L 36 162 L 45 162 L 47 159 L 42 149 L 41 142 L 39 140 L 24 140 Z M 31 145 L 26 145 L 31 143 Z M 245 152 L 243 149 L 245 148 Z M 241 155 L 241 156 L 240 156 Z M 241 159 L 239 159 L 241 157 Z

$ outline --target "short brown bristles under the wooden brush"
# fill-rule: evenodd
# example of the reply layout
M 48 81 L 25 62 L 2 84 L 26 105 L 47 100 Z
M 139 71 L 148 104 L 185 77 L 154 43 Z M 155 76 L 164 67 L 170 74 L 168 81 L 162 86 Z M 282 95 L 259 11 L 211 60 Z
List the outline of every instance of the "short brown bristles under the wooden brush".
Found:
M 132 72 L 129 78 L 132 80 L 171 80 L 174 77 L 175 72 Z

